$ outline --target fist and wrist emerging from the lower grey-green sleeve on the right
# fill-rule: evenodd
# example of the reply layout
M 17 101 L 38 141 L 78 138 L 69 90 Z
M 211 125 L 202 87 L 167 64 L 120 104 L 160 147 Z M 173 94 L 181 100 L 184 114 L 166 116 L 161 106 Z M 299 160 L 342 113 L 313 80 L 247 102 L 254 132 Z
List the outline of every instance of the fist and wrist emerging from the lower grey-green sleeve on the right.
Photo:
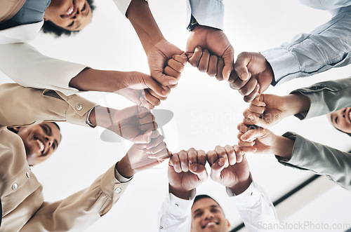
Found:
M 270 153 L 290 160 L 293 153 L 293 140 L 274 135 L 265 128 L 239 123 L 239 146 L 242 151 L 255 153 Z

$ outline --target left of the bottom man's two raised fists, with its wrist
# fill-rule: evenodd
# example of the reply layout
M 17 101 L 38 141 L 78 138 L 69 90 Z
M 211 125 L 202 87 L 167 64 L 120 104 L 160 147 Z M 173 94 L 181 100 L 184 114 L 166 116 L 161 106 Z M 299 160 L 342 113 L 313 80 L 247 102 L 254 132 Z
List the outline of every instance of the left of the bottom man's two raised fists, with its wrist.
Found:
M 169 191 L 173 195 L 189 199 L 192 189 L 207 180 L 206 153 L 189 149 L 171 156 L 168 163 Z

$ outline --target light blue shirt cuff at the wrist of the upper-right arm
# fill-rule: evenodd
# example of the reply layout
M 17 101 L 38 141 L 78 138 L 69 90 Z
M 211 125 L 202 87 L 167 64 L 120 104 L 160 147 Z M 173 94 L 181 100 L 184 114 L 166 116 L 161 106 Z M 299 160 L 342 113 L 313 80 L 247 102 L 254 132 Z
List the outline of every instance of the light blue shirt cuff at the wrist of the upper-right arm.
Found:
M 272 48 L 260 52 L 267 62 L 270 63 L 274 73 L 272 86 L 277 83 L 281 84 L 298 77 L 300 73 L 300 64 L 296 57 L 289 53 L 284 47 Z

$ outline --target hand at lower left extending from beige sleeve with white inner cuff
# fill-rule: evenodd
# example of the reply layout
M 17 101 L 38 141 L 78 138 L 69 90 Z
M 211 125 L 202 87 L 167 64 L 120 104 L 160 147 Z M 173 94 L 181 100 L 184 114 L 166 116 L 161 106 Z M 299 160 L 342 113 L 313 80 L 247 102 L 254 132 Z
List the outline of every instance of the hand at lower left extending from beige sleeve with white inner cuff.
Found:
M 129 178 L 135 172 L 140 172 L 162 163 L 169 158 L 171 153 L 168 152 L 166 144 L 163 142 L 164 137 L 154 130 L 151 135 L 152 139 L 148 144 L 133 144 L 128 150 L 126 156 L 117 164 L 117 170 L 122 176 Z M 150 158 L 152 156 L 152 158 Z

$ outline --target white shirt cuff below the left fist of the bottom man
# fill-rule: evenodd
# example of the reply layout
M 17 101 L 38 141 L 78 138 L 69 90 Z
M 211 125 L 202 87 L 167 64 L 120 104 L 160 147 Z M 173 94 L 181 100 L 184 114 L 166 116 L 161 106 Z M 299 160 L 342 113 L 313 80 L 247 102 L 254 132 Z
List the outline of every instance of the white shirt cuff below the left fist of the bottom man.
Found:
M 193 190 L 190 196 L 191 199 L 185 200 L 174 196 L 172 193 L 168 193 L 168 212 L 178 217 L 183 217 L 185 212 L 191 212 L 192 203 L 194 203 L 195 195 L 196 190 Z

